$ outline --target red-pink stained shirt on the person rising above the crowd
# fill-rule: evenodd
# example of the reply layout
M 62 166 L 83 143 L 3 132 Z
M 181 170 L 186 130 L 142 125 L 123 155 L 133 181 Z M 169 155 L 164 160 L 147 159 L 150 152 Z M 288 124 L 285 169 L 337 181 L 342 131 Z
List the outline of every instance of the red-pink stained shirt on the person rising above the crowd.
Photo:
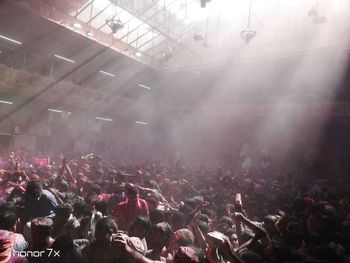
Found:
M 138 199 L 136 206 L 128 203 L 128 200 L 120 202 L 114 209 L 114 216 L 117 218 L 118 228 L 127 230 L 129 225 L 138 217 L 148 217 L 148 205 L 143 199 Z

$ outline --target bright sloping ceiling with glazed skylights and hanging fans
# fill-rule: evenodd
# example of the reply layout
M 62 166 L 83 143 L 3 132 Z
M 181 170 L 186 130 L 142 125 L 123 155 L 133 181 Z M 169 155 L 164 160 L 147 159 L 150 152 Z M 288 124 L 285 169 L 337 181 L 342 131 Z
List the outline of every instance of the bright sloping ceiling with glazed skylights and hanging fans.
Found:
M 85 38 L 117 51 L 115 56 L 123 54 L 161 71 L 350 46 L 347 0 L 211 0 L 205 8 L 201 8 L 200 0 L 31 0 L 30 4 L 25 0 L 3 0 L 2 4 L 17 7 L 14 12 L 3 12 L 2 18 L 8 24 L 6 19 L 12 16 L 15 28 L 21 27 L 17 20 L 26 23 L 27 19 L 18 16 L 20 7 L 22 12 L 42 16 L 75 33 L 64 31 L 64 35 L 57 35 L 52 26 L 40 21 L 45 26 L 35 28 L 43 30 L 21 27 L 29 34 L 29 42 L 34 39 L 36 44 L 36 39 L 56 37 L 61 40 L 55 43 L 61 46 L 59 43 L 74 42 L 68 39 L 80 42 Z M 325 23 L 314 23 L 310 10 L 316 10 Z M 33 24 L 40 20 L 31 19 Z M 117 25 L 115 33 L 113 24 Z M 239 37 L 242 31 L 256 35 L 247 44 Z M 81 47 L 69 47 L 68 55 L 79 55 Z

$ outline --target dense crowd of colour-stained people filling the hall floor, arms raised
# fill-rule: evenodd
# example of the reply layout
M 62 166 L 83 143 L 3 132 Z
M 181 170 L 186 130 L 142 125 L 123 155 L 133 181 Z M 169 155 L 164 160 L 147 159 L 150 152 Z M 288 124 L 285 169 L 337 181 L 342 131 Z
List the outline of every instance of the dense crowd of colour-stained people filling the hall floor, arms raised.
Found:
M 11 154 L 0 262 L 350 262 L 350 181 L 265 155 L 208 170 Z

